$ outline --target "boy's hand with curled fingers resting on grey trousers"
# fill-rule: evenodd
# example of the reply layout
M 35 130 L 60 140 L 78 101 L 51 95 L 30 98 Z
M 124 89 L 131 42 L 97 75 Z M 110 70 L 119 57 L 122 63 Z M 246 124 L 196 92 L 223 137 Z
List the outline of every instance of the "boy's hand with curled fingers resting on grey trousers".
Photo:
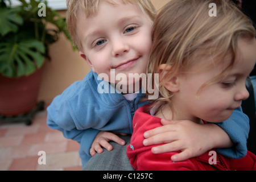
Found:
M 120 135 L 127 135 L 123 133 L 118 133 Z M 92 147 L 90 148 L 90 155 L 94 156 L 96 152 L 101 154 L 103 152 L 102 147 L 106 148 L 106 150 L 111 151 L 113 147 L 109 144 L 109 141 L 114 141 L 122 146 L 125 145 L 125 140 L 119 138 L 117 133 L 111 133 L 108 131 L 100 131 L 96 138 L 93 140 Z

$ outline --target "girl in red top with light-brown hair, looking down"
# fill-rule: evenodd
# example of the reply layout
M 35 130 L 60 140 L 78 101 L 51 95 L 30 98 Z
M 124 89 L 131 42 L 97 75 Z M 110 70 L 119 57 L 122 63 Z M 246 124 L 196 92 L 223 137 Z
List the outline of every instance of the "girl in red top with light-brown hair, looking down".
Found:
M 217 16 L 209 15 L 210 3 Z M 146 73 L 159 74 L 159 97 L 134 115 L 127 146 L 131 165 L 137 170 L 255 170 L 256 157 L 249 151 L 235 160 L 212 149 L 174 163 L 171 156 L 179 152 L 153 154 L 158 145 L 143 144 L 144 132 L 162 126 L 161 118 L 222 122 L 249 97 L 245 81 L 256 61 L 251 21 L 230 1 L 172 0 L 156 17 L 152 36 Z M 158 80 L 152 83 L 158 86 Z

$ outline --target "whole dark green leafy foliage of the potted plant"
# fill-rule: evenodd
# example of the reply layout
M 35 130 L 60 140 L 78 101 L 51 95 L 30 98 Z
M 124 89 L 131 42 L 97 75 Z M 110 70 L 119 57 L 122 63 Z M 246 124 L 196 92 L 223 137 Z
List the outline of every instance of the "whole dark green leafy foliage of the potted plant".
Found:
M 72 43 L 65 18 L 46 0 L 18 1 L 18 7 L 0 6 L 0 73 L 8 77 L 29 75 L 42 67 L 44 57 L 50 59 L 48 46 L 59 39 L 60 32 Z M 40 2 L 46 4 L 46 16 L 38 16 Z

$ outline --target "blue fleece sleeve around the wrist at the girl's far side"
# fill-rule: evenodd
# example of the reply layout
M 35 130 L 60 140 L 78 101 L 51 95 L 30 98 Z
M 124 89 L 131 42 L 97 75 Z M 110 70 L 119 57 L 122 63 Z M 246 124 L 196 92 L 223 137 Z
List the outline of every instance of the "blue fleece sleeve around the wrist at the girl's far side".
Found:
M 249 118 L 242 112 L 242 107 L 235 109 L 229 119 L 216 123 L 233 141 L 234 146 L 230 148 L 218 148 L 217 152 L 232 159 L 243 158 L 247 154 L 247 138 L 250 125 Z

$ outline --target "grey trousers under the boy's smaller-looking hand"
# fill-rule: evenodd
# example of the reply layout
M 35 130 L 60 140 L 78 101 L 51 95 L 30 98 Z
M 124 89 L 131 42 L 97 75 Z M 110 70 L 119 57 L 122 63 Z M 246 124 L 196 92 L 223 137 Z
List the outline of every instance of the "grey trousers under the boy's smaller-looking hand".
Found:
M 126 145 L 121 146 L 115 142 L 110 142 L 112 151 L 104 148 L 104 152 L 94 155 L 82 168 L 82 171 L 134 171 L 126 156 L 126 146 L 130 144 L 131 135 L 121 136 Z

